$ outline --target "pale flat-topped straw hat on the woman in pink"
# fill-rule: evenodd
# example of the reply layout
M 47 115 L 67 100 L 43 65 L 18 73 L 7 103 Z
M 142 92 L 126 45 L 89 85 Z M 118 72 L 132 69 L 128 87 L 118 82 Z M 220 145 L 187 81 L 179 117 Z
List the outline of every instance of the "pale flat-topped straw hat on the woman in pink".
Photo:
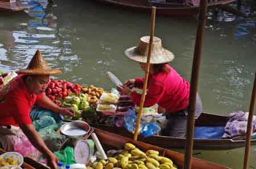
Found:
M 131 47 L 125 50 L 125 54 L 131 60 L 146 63 L 150 36 L 141 37 L 137 47 Z M 174 60 L 174 53 L 164 49 L 162 40 L 154 37 L 152 41 L 152 52 L 150 64 L 165 64 Z

